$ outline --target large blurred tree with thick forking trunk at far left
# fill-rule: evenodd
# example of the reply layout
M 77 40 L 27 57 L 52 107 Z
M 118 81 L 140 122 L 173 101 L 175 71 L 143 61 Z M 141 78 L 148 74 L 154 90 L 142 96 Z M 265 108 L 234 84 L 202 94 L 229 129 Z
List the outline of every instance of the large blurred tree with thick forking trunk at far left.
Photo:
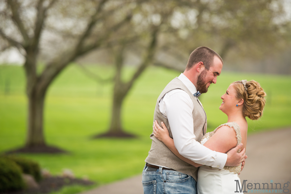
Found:
M 0 14 L 3 21 L 0 27 L 1 45 L 2 42 L 4 45 L 1 49 L 16 47 L 25 57 L 27 138 L 25 147 L 16 151 L 62 151 L 45 143 L 43 109 L 47 89 L 72 61 L 102 47 L 116 30 L 130 21 L 133 6 L 129 3 L 109 0 L 7 0 L 1 3 L 4 7 Z M 50 40 L 62 40 L 62 44 L 54 44 Z M 54 46 L 46 47 L 49 44 Z M 51 50 L 46 50 L 49 48 Z M 53 54 L 41 71 L 38 58 L 44 51 Z

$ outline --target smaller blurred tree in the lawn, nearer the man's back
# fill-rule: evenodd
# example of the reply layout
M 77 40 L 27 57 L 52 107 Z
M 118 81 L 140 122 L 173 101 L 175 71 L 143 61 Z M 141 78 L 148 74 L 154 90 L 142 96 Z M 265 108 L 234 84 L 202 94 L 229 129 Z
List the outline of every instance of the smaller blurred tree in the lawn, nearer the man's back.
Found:
M 172 1 L 171 4 L 167 4 L 168 2 L 144 1 L 140 3 L 134 10 L 132 22 L 120 28 L 117 35 L 109 40 L 107 47 L 113 54 L 116 70 L 112 79 L 114 87 L 111 122 L 105 134 L 95 137 L 134 137 L 133 134 L 127 134 L 123 129 L 122 104 L 136 79 L 156 60 L 155 54 L 160 46 L 158 37 L 162 33 L 161 27 L 168 25 L 173 13 L 173 6 L 176 5 L 175 1 Z M 128 81 L 122 79 L 122 71 L 126 65 L 124 64 L 126 51 L 138 52 L 137 55 L 142 56 L 140 64 L 136 64 L 136 70 Z M 92 75 L 90 72 L 89 74 Z M 93 77 L 97 78 L 96 75 Z M 100 77 L 96 80 L 102 81 Z

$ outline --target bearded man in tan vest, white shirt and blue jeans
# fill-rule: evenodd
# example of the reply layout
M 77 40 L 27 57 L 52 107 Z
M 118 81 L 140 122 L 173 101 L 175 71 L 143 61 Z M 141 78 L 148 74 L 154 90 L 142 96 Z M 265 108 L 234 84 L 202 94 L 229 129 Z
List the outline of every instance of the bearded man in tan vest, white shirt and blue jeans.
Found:
M 182 156 L 219 169 L 224 165 L 238 166 L 245 156 L 245 152 L 237 153 L 241 145 L 224 154 L 199 143 L 206 133 L 207 117 L 197 97 L 207 92 L 211 83 L 216 83 L 222 66 L 221 57 L 212 49 L 195 49 L 184 73 L 168 83 L 159 95 L 154 112 L 154 121 L 164 122 Z M 142 178 L 144 193 L 197 193 L 198 168 L 175 156 L 153 134 L 150 138 L 152 146 Z

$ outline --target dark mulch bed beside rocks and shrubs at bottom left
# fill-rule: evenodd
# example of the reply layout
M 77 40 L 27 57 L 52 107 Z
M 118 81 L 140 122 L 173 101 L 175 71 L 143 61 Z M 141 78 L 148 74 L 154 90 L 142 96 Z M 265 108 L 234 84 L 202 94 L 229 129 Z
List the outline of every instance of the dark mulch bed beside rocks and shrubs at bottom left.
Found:
M 63 186 L 68 185 L 84 185 L 89 186 L 93 185 L 94 182 L 83 179 L 72 179 L 72 178 L 63 178 L 63 177 L 49 177 L 42 179 L 38 185 L 38 188 L 30 188 L 22 191 L 9 192 L 8 194 L 42 194 L 50 193 L 53 191 L 60 190 Z

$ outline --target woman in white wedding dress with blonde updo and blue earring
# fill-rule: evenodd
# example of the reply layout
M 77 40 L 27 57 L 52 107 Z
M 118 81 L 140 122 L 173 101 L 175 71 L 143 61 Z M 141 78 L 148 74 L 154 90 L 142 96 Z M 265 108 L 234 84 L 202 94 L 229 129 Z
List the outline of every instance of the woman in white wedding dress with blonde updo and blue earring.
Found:
M 251 120 L 259 119 L 263 114 L 266 93 L 256 81 L 235 81 L 221 96 L 222 104 L 219 109 L 228 117 L 227 123 L 221 124 L 214 131 L 203 136 L 200 143 L 217 152 L 227 153 L 230 149 L 243 143 L 246 148 L 248 123 L 245 117 Z M 195 163 L 179 154 L 174 141 L 162 122 L 162 127 L 157 121 L 153 124 L 154 135 L 162 141 L 176 156 L 183 161 L 199 167 L 197 178 L 198 194 L 205 193 L 234 193 L 237 184 L 240 188 L 238 177 L 241 166 L 224 166 L 222 170 Z M 238 151 L 240 152 L 240 150 Z M 237 181 L 236 181 L 237 180 Z M 239 191 L 239 190 L 238 190 Z

